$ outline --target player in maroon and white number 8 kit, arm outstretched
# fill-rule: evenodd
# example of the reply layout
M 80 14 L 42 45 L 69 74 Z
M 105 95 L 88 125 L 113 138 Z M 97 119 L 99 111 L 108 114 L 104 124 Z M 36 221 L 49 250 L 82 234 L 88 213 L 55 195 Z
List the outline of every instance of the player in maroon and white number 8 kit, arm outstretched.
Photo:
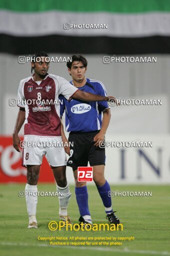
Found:
M 47 58 L 46 58 L 47 57 Z M 48 61 L 47 61 L 48 60 Z M 68 201 L 70 199 L 69 187 L 66 181 L 66 156 L 63 147 L 34 147 L 37 142 L 60 143 L 61 123 L 59 104 L 56 103 L 59 94 L 67 100 L 80 99 L 84 101 L 108 101 L 112 96 L 99 96 L 78 90 L 64 78 L 48 74 L 49 56 L 44 52 L 34 55 L 31 62 L 32 76 L 22 79 L 18 88 L 19 111 L 13 132 L 13 147 L 19 151 L 18 133 L 24 123 L 24 142 L 31 143 L 22 152 L 22 165 L 27 167 L 27 183 L 25 186 L 26 207 L 28 212 L 28 228 L 37 228 L 36 204 L 37 182 L 39 169 L 43 156 L 51 166 L 56 181 L 57 192 L 62 196 L 59 199 L 59 216 L 62 221 L 71 223 L 67 214 Z M 51 102 L 52 100 L 52 102 Z M 44 104 L 44 101 L 47 102 Z M 37 103 L 38 102 L 38 103 Z M 43 144 L 45 145 L 45 144 Z M 59 193 L 58 193 L 59 194 Z

